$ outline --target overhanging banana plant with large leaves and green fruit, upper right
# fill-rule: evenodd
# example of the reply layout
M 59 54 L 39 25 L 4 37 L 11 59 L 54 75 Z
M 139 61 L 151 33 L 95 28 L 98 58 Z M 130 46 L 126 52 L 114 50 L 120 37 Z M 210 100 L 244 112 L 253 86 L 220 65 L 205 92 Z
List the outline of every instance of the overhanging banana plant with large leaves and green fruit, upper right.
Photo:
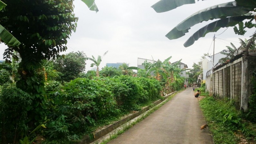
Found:
M 194 0 L 161 0 L 155 5 L 152 5 L 152 8 L 157 13 L 166 12 L 172 10 L 178 6 L 185 4 L 195 3 Z M 255 19 L 256 11 L 256 1 L 255 0 L 235 0 L 228 3 L 223 3 L 219 5 L 214 5 L 205 9 L 202 9 L 185 20 L 180 24 L 175 26 L 168 34 L 165 36 L 172 39 L 177 39 L 188 33 L 190 27 L 195 24 L 201 23 L 203 21 L 220 19 L 206 26 L 202 27 L 200 30 L 195 32 L 183 45 L 188 47 L 192 45 L 200 37 L 204 37 L 209 32 L 217 32 L 221 27 L 230 27 L 239 24 L 239 29 L 234 28 L 236 34 L 243 35 L 246 31 L 245 27 L 252 28 L 256 27 L 256 24 L 252 24 L 252 20 Z M 251 13 L 249 13 L 251 12 Z M 243 26 L 242 21 L 249 19 L 249 22 L 245 23 Z

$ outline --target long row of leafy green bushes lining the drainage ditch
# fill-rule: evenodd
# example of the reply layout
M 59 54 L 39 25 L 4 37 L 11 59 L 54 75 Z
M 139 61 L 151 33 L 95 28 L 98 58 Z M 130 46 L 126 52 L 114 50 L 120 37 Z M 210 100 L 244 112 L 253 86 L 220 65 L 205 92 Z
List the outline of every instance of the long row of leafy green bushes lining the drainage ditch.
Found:
M 139 110 L 142 104 L 160 98 L 161 85 L 157 80 L 122 75 L 77 78 L 65 86 L 49 81 L 45 89 L 46 134 L 51 138 L 73 138 L 74 133 L 91 131 L 96 121 Z

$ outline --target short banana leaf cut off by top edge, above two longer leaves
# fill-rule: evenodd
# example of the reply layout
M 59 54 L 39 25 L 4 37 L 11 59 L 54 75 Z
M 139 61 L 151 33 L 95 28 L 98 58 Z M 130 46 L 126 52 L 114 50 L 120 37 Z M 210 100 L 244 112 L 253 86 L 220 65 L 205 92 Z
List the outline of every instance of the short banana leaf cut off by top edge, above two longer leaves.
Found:
M 195 0 L 161 0 L 151 7 L 157 12 L 167 12 L 185 4 L 194 4 Z

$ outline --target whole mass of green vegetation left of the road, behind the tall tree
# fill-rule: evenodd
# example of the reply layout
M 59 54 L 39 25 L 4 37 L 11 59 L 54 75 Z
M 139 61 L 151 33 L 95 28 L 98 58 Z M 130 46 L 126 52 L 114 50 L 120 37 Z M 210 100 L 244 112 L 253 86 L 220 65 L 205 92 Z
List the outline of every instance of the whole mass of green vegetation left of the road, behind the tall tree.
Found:
M 148 68 L 137 74 L 125 63 L 119 68 L 104 67 L 96 77 L 96 71 L 84 73 L 85 56 L 71 52 L 57 60 L 42 61 L 42 68 L 35 71 L 44 82 L 44 97 L 38 97 L 43 98 L 39 103 L 33 102 L 37 92 L 16 86 L 21 79 L 16 70 L 18 62 L 0 63 L 0 143 L 32 142 L 37 135 L 77 140 L 98 126 L 161 99 L 164 93 L 181 89 L 184 82 L 179 75 L 183 70 L 178 64 L 170 64 L 169 59 L 145 62 Z

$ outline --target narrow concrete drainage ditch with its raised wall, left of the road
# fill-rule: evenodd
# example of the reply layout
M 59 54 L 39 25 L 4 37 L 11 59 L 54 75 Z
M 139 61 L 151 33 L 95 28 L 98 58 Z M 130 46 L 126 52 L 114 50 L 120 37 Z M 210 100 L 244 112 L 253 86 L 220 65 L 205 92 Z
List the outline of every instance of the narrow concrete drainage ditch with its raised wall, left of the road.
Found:
M 170 97 L 173 93 L 169 93 L 164 96 L 164 100 L 157 100 L 153 102 L 153 107 L 160 104 L 162 101 L 165 101 L 168 97 Z M 121 118 L 119 121 L 115 121 L 113 124 L 107 125 L 99 130 L 93 132 L 93 139 L 90 139 L 89 136 L 84 136 L 80 144 L 97 144 L 101 143 L 104 139 L 109 139 L 112 135 L 116 134 L 118 131 L 125 129 L 127 126 L 131 125 L 137 119 L 143 117 L 148 110 L 150 110 L 152 106 L 146 106 L 142 110 L 137 111 L 135 113 L 128 114 Z

